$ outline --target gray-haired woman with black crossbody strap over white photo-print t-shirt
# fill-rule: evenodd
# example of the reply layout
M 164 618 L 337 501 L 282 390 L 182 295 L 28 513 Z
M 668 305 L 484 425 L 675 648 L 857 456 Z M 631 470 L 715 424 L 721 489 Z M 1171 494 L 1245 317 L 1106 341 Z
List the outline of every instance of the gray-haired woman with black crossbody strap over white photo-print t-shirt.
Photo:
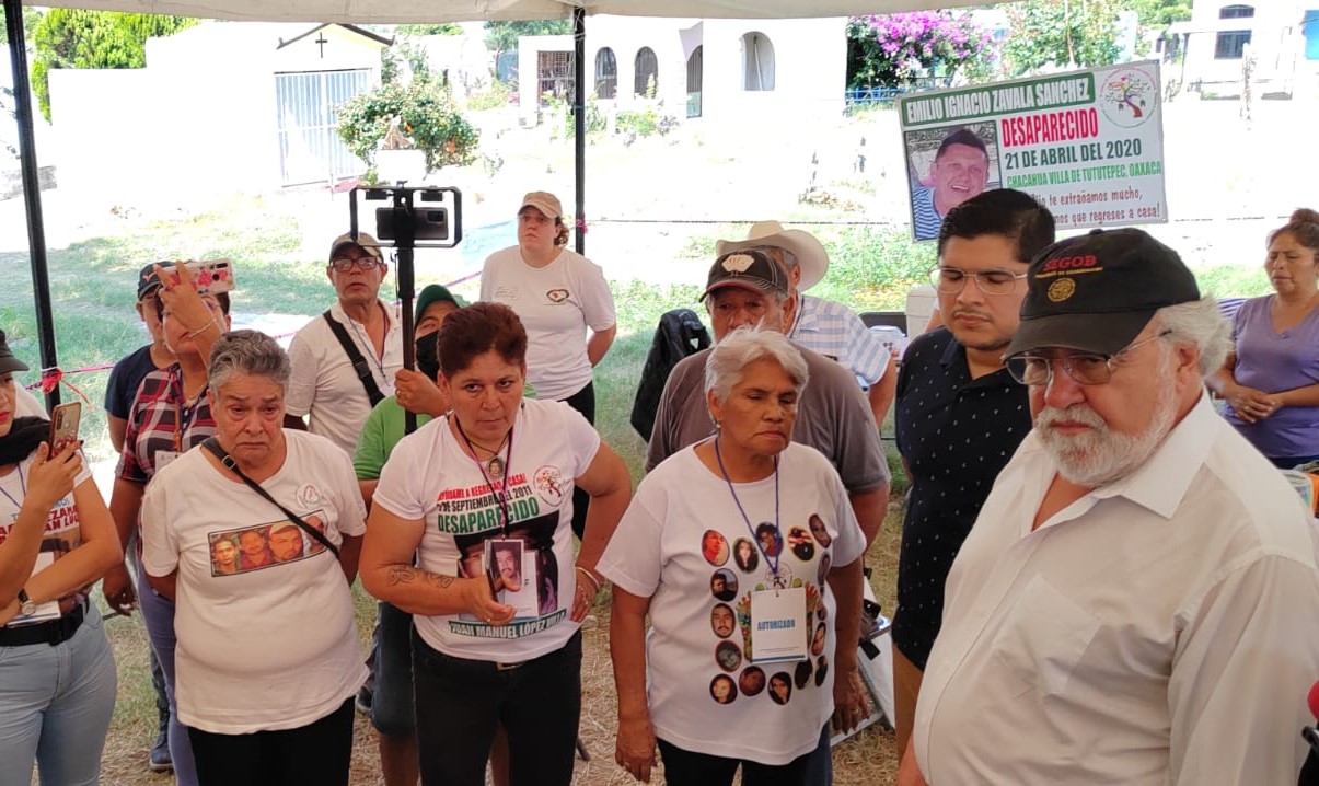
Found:
M 160 468 L 142 500 L 142 566 L 178 607 L 175 700 L 198 781 L 346 785 L 365 678 L 352 463 L 282 427 L 289 357 L 274 339 L 226 334 L 208 375 L 215 437 Z M 290 522 L 303 549 L 274 559 L 270 533 Z M 237 570 L 216 570 L 216 541 L 237 542 Z

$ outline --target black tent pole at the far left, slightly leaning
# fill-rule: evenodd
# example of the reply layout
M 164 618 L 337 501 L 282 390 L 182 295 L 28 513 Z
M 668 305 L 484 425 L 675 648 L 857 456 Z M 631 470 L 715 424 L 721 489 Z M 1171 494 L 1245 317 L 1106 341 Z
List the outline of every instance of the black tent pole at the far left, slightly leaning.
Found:
M 32 128 L 32 84 L 28 78 L 28 50 L 22 34 L 21 0 L 4 0 L 5 32 L 9 34 L 9 65 L 13 69 L 15 117 L 18 121 L 18 164 L 22 170 L 22 202 L 28 214 L 28 248 L 32 262 L 32 289 L 37 306 L 37 343 L 41 368 L 57 368 L 55 320 L 50 309 L 50 274 L 46 272 L 46 229 L 41 218 L 41 182 L 37 174 L 37 145 Z M 46 406 L 59 404 L 59 388 L 46 393 Z

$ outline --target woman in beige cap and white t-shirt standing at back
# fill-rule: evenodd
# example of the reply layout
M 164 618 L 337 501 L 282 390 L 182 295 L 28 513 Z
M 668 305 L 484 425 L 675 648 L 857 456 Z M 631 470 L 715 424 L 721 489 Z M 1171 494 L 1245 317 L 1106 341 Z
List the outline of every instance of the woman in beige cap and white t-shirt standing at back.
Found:
M 517 245 L 481 269 L 481 299 L 504 303 L 526 328 L 526 381 L 537 398 L 563 401 L 595 423 L 591 369 L 613 343 L 613 294 L 600 266 L 571 252 L 563 206 L 532 191 L 517 211 Z M 572 531 L 586 526 L 584 492 L 572 499 Z

